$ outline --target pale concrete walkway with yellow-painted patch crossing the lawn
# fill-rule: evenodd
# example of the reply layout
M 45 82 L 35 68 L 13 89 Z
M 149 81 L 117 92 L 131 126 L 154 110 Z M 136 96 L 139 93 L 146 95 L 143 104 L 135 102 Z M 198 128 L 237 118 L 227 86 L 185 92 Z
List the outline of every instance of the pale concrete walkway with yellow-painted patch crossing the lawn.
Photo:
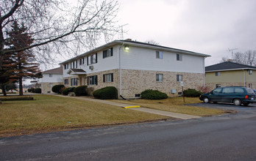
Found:
M 60 94 L 53 94 L 53 95 L 59 96 L 59 97 L 70 97 L 70 96 L 63 96 Z M 129 104 L 124 104 L 124 103 L 119 103 L 119 102 L 112 102 L 112 101 L 108 101 L 108 100 L 98 100 L 98 99 L 93 99 L 90 97 L 71 97 L 71 98 L 78 99 L 78 100 L 92 101 L 92 102 L 100 102 L 100 103 L 104 103 L 107 105 L 115 105 L 118 107 L 127 108 L 129 110 L 141 111 L 141 112 L 145 112 L 145 113 L 153 113 L 153 114 L 168 116 L 168 117 L 172 117 L 172 118 L 176 118 L 176 119 L 198 119 L 198 118 L 201 118 L 201 116 L 193 116 L 193 115 L 187 115 L 187 114 L 182 114 L 182 113 L 172 113 L 172 112 L 168 112 L 168 111 L 159 111 L 159 110 L 154 110 L 154 109 L 150 109 L 150 108 L 141 108 L 141 107 L 134 108 L 134 107 L 137 107 L 138 105 L 129 105 Z M 129 108 L 129 107 L 131 107 L 131 108 Z

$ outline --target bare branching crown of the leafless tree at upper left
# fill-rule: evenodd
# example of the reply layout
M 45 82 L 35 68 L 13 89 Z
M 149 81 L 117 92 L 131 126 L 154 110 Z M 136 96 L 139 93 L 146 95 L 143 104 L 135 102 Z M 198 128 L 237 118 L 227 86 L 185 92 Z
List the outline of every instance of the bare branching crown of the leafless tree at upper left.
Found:
M 115 34 L 117 11 L 115 0 L 77 0 L 77 4 L 65 0 L 0 0 L 0 58 L 33 49 L 38 61 L 48 63 L 55 53 L 82 53 L 97 45 L 102 35 L 109 39 Z M 4 50 L 9 39 L 6 31 L 14 20 L 24 23 L 34 42 L 26 48 Z

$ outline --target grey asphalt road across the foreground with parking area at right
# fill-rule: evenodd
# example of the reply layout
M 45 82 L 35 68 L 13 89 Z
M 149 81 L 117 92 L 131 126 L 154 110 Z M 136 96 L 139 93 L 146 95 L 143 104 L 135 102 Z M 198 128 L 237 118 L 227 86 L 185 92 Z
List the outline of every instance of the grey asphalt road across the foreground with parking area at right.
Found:
M 238 113 L 0 138 L 0 160 L 256 160 L 256 105 L 207 106 Z

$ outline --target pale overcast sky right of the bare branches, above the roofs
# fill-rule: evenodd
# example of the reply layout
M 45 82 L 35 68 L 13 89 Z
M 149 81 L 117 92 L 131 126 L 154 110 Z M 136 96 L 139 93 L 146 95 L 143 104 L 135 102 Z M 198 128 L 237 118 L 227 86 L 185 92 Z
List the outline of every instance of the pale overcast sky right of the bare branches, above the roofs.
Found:
M 119 0 L 118 23 L 131 38 L 211 55 L 216 64 L 231 51 L 256 50 L 255 0 Z

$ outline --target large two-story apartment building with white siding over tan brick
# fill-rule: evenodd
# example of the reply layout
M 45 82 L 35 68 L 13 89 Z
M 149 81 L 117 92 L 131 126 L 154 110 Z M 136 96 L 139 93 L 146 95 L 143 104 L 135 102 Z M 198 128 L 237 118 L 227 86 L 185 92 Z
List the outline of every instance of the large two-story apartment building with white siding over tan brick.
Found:
M 132 40 L 115 40 L 82 55 L 63 61 L 65 86 L 88 86 L 90 91 L 115 86 L 126 98 L 157 89 L 177 96 L 181 89 L 204 85 L 205 58 L 209 55 L 151 45 Z

